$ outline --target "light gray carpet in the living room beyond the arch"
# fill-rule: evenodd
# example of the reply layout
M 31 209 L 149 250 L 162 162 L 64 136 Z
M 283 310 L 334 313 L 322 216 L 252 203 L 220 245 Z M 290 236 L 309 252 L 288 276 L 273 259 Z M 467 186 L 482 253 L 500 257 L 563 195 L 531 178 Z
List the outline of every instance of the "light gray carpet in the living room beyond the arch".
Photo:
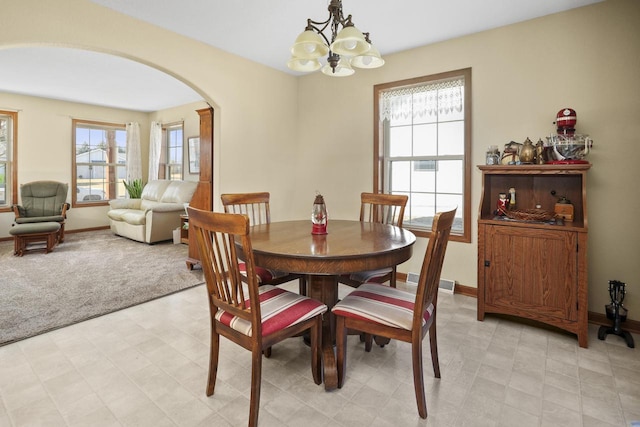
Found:
M 23 257 L 13 241 L 0 242 L 0 346 L 202 283 L 187 252 L 109 230 L 67 233 L 53 252 Z

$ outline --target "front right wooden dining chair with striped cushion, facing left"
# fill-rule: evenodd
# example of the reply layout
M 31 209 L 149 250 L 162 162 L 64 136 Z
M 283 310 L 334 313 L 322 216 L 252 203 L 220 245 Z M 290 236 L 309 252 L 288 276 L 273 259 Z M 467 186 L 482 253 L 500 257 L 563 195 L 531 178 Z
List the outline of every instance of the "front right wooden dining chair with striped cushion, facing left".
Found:
M 336 358 L 338 387 L 342 388 L 347 367 L 347 330 L 387 337 L 411 344 L 413 385 L 421 418 L 427 418 L 422 369 L 422 340 L 429 333 L 431 363 L 440 378 L 436 339 L 436 306 L 440 272 L 456 210 L 435 215 L 429 244 L 422 262 L 416 294 L 381 285 L 365 283 L 347 295 L 332 309 L 336 316 Z

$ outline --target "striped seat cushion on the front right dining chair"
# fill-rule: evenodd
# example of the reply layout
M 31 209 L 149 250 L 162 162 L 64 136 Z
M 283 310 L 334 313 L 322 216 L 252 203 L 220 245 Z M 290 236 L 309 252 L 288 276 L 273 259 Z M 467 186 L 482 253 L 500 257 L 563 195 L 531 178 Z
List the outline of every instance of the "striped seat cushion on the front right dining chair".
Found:
M 411 330 L 416 296 L 411 292 L 377 283 L 365 283 L 331 310 L 338 316 L 363 319 L 394 328 Z M 433 304 L 424 312 L 423 325 L 433 313 Z

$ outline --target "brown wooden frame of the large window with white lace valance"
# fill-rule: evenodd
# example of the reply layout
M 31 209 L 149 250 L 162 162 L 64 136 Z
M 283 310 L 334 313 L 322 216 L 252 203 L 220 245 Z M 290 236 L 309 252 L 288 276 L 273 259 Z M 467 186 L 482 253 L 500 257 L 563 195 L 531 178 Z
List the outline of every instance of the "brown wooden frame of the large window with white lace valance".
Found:
M 440 80 L 464 78 L 464 179 L 463 179 L 463 232 L 451 231 L 451 241 L 471 243 L 471 68 L 447 71 L 395 82 L 382 83 L 373 87 L 373 190 L 382 193 L 385 189 L 385 141 L 384 124 L 380 121 L 380 97 L 383 92 L 436 83 Z M 416 156 L 419 157 L 419 156 Z M 446 158 L 446 156 L 443 156 Z M 429 237 L 430 228 L 404 226 L 418 237 Z

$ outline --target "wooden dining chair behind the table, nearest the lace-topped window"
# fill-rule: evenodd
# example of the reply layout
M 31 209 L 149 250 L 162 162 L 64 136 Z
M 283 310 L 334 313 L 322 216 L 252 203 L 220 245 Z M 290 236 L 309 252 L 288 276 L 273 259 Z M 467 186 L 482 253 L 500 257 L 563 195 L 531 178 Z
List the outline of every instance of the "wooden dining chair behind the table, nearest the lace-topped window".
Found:
M 360 195 L 360 221 L 402 227 L 407 200 L 409 200 L 408 196 L 400 194 L 362 193 Z M 338 281 L 353 288 L 366 282 L 389 282 L 389 285 L 395 288 L 396 267 L 343 274 L 338 278 Z

